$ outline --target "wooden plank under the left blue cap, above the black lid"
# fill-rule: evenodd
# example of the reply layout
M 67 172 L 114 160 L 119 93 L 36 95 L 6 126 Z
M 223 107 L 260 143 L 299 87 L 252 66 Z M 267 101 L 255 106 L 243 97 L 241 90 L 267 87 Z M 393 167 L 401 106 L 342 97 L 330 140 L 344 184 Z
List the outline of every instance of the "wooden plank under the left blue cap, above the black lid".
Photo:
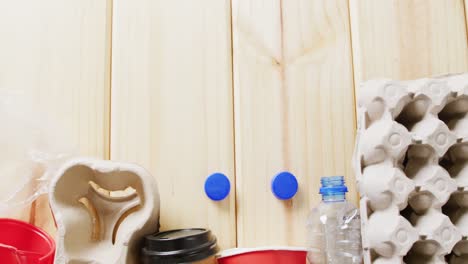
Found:
M 235 188 L 210 201 L 205 178 L 234 185 L 228 0 L 114 3 L 111 158 L 156 178 L 162 230 L 209 227 L 236 245 Z

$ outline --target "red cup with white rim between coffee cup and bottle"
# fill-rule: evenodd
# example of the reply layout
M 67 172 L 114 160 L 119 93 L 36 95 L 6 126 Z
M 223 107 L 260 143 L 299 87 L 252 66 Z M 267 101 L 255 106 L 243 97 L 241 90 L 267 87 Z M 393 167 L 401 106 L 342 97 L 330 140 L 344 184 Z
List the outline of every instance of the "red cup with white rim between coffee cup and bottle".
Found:
M 218 255 L 219 264 L 305 264 L 306 248 L 260 247 L 234 248 Z

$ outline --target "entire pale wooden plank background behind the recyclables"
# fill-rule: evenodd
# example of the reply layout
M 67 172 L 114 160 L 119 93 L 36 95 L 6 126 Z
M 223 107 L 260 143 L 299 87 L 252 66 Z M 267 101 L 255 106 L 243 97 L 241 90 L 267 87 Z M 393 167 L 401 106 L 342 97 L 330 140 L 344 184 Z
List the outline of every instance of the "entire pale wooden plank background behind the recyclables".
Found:
M 163 229 L 303 245 L 321 176 L 345 175 L 357 200 L 359 83 L 467 71 L 467 4 L 0 0 L 0 91 L 34 98 L 80 154 L 149 169 Z M 300 184 L 287 202 L 269 189 L 283 170 Z M 233 186 L 220 203 L 203 193 L 217 171 Z M 18 217 L 54 232 L 43 198 Z

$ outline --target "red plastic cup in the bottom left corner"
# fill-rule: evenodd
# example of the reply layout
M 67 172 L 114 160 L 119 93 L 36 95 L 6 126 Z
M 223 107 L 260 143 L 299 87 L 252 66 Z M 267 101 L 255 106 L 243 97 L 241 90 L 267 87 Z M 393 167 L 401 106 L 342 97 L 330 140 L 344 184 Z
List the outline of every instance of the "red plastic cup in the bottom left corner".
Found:
M 0 218 L 0 260 L 2 264 L 52 264 L 55 242 L 31 224 Z

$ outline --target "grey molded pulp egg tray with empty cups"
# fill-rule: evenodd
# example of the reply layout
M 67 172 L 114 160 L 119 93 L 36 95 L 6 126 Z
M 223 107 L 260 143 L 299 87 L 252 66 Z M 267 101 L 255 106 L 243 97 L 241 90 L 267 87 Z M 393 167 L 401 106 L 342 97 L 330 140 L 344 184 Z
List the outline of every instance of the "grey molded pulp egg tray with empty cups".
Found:
M 358 91 L 364 262 L 468 263 L 468 74 Z

